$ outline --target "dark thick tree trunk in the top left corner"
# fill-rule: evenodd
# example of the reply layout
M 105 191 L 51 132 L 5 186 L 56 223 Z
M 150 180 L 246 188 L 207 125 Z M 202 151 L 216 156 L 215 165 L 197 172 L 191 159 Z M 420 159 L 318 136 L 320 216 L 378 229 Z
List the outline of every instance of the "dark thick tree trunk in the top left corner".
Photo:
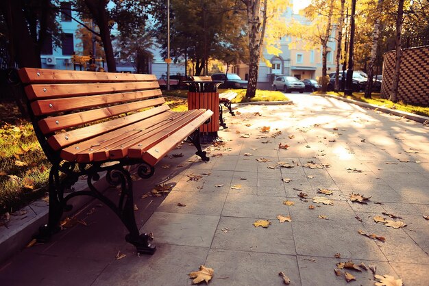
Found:
M 11 57 L 20 68 L 40 68 L 40 47 L 32 38 L 27 27 L 22 1 L 0 1 L 0 10 L 8 25 Z

